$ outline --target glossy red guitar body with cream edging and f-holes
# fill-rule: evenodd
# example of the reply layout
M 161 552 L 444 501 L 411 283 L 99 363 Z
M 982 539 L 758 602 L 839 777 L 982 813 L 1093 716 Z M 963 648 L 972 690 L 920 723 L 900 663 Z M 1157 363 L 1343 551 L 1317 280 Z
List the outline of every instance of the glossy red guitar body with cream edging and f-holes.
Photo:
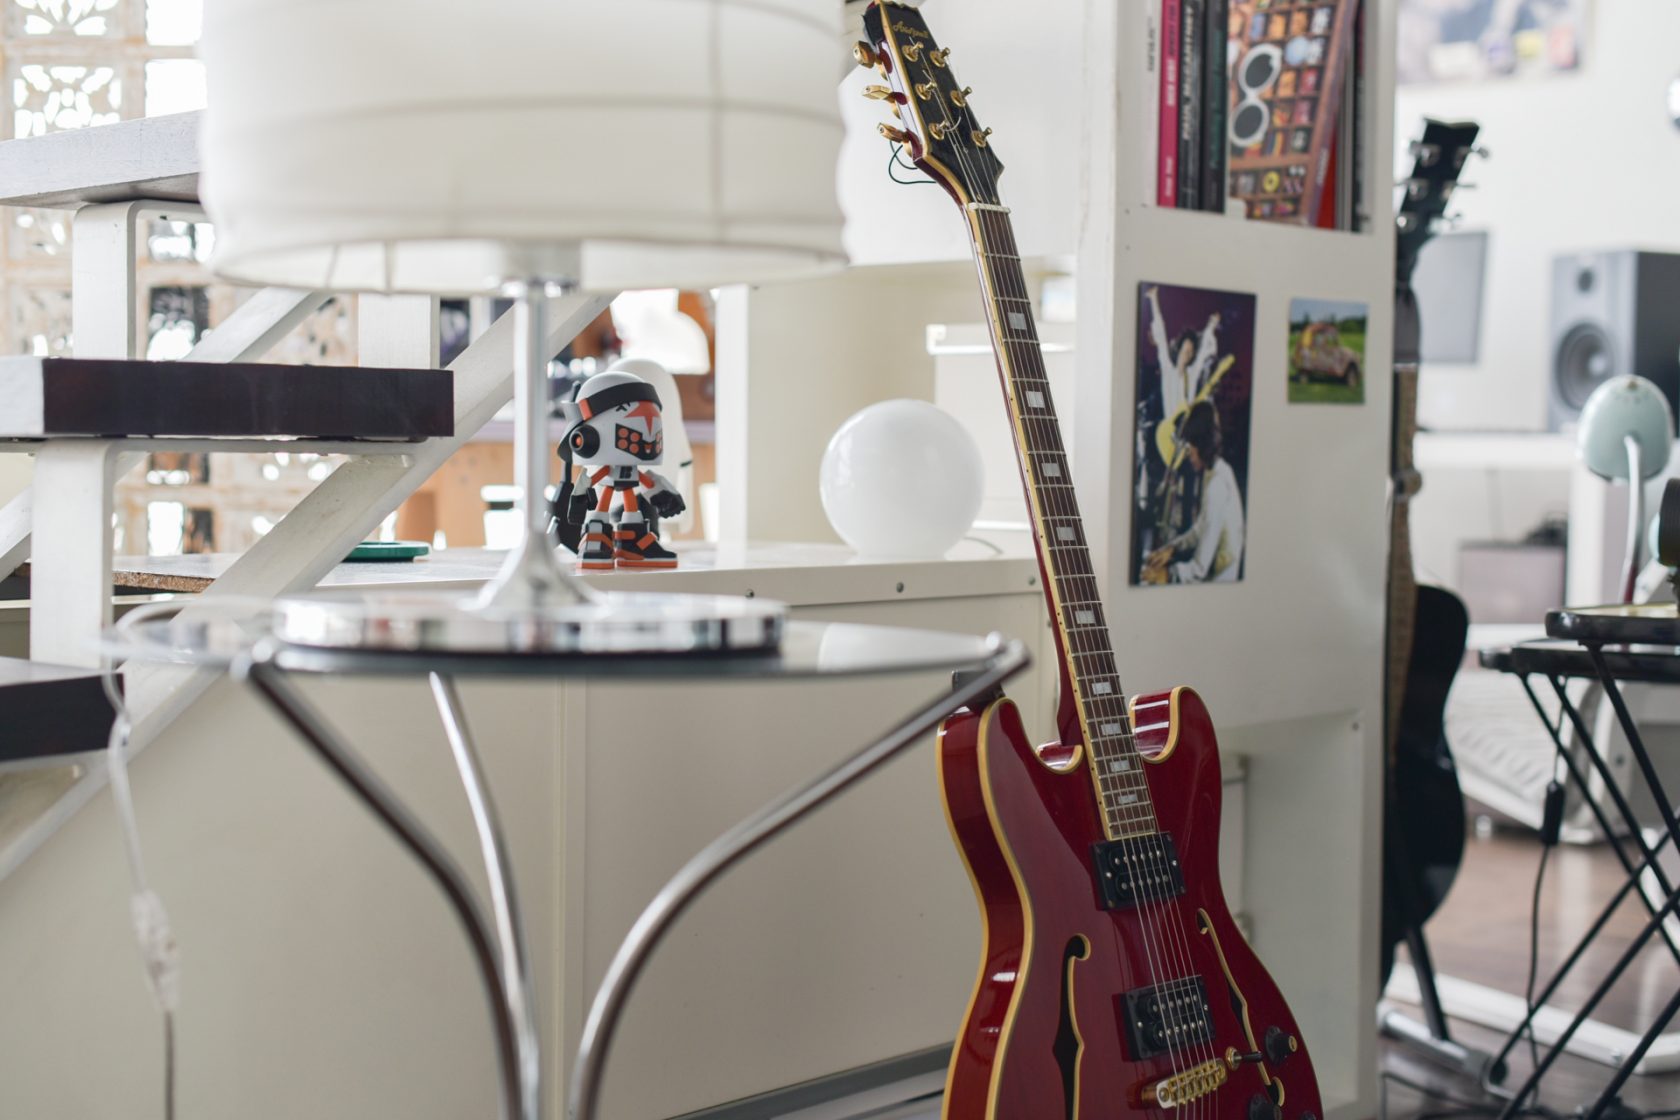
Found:
M 1144 1098 L 1146 1086 L 1267 1049 L 1282 1060 L 1226 1065 L 1223 1085 L 1178 1112 L 1324 1115 L 1295 1019 L 1220 887 L 1220 759 L 1208 712 L 1189 688 L 1141 697 L 1134 734 L 1186 890 L 1110 912 L 1095 887 L 1092 848 L 1105 835 L 1085 752 L 1035 751 L 1005 699 L 941 729 L 946 811 L 984 919 L 979 979 L 946 1080 L 948 1120 L 1161 1117 L 1168 1112 Z M 1126 994 L 1186 976 L 1205 982 L 1211 1039 L 1176 1060 L 1137 1060 Z

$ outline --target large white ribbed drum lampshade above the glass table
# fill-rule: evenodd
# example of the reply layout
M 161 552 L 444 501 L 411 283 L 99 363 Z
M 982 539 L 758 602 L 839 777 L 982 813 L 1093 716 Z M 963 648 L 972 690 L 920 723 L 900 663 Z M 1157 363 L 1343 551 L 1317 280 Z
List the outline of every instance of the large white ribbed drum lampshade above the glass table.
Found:
M 223 277 L 470 294 L 843 264 L 840 0 L 217 0 Z

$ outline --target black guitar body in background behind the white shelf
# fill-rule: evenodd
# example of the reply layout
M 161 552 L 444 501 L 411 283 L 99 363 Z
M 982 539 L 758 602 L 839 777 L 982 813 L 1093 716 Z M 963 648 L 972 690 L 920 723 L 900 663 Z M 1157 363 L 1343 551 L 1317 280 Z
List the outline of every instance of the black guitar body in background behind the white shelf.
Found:
M 1445 588 L 1420 586 L 1399 707 L 1383 856 L 1383 981 L 1406 930 L 1441 905 L 1465 853 L 1465 796 L 1446 746 L 1446 693 L 1465 655 L 1470 615 Z

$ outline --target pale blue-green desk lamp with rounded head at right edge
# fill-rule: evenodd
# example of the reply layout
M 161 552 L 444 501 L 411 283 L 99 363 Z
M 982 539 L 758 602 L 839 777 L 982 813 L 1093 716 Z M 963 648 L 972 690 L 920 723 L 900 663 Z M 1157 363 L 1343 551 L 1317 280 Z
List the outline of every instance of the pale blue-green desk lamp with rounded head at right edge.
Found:
M 1673 415 L 1663 391 L 1636 376 L 1618 376 L 1593 390 L 1581 408 L 1576 453 L 1588 470 L 1628 484 L 1628 554 L 1623 559 L 1621 601 L 1633 601 L 1645 527 L 1645 482 L 1668 467 L 1675 442 Z

